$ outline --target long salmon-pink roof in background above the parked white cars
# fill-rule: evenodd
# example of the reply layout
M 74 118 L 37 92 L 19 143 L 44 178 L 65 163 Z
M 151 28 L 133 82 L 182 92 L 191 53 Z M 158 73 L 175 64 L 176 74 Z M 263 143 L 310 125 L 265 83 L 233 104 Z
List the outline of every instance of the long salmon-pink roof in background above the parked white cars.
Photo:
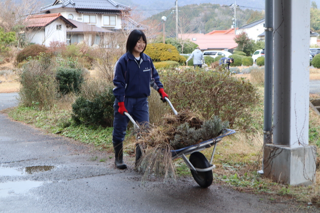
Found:
M 203 34 L 203 33 L 185 33 L 179 34 L 179 38 L 190 39 L 193 43 L 199 45 L 201 50 L 223 50 L 234 49 L 238 44 L 234 41 L 234 34 Z

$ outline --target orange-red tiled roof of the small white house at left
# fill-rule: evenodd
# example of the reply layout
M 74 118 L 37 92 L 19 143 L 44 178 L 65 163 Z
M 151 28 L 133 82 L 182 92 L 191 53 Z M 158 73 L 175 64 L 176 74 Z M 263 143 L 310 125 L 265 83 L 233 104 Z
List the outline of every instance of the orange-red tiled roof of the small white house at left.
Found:
M 60 13 L 31 15 L 26 19 L 27 27 L 45 27 L 60 17 L 63 17 Z

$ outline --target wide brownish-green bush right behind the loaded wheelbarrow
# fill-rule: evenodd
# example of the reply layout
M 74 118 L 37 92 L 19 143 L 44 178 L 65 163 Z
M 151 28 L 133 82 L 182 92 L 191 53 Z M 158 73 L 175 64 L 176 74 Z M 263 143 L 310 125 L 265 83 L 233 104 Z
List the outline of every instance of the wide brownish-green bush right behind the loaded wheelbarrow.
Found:
M 216 115 L 229 121 L 231 127 L 250 127 L 250 111 L 258 101 L 258 93 L 249 81 L 230 76 L 229 72 L 201 69 L 186 69 L 183 74 L 162 72 L 161 81 L 171 91 L 169 97 L 178 112 L 191 109 L 206 120 Z

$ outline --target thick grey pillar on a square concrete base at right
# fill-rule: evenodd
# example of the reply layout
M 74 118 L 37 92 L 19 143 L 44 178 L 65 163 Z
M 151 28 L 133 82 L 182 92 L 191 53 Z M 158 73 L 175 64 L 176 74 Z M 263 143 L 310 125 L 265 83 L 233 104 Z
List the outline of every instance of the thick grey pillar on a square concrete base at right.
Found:
M 316 181 L 309 146 L 310 0 L 274 1 L 273 144 L 264 148 L 264 174 L 288 184 Z

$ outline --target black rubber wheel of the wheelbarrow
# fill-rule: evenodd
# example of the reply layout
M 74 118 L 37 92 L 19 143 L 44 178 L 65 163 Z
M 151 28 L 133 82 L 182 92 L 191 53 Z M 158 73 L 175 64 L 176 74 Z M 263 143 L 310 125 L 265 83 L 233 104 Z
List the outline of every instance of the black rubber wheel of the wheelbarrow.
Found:
M 209 161 L 201 152 L 193 152 L 190 155 L 189 161 L 195 168 L 205 169 L 210 167 Z M 212 184 L 212 181 L 213 181 L 212 171 L 196 172 L 191 170 L 191 174 L 195 182 L 198 183 L 203 188 L 207 188 Z

